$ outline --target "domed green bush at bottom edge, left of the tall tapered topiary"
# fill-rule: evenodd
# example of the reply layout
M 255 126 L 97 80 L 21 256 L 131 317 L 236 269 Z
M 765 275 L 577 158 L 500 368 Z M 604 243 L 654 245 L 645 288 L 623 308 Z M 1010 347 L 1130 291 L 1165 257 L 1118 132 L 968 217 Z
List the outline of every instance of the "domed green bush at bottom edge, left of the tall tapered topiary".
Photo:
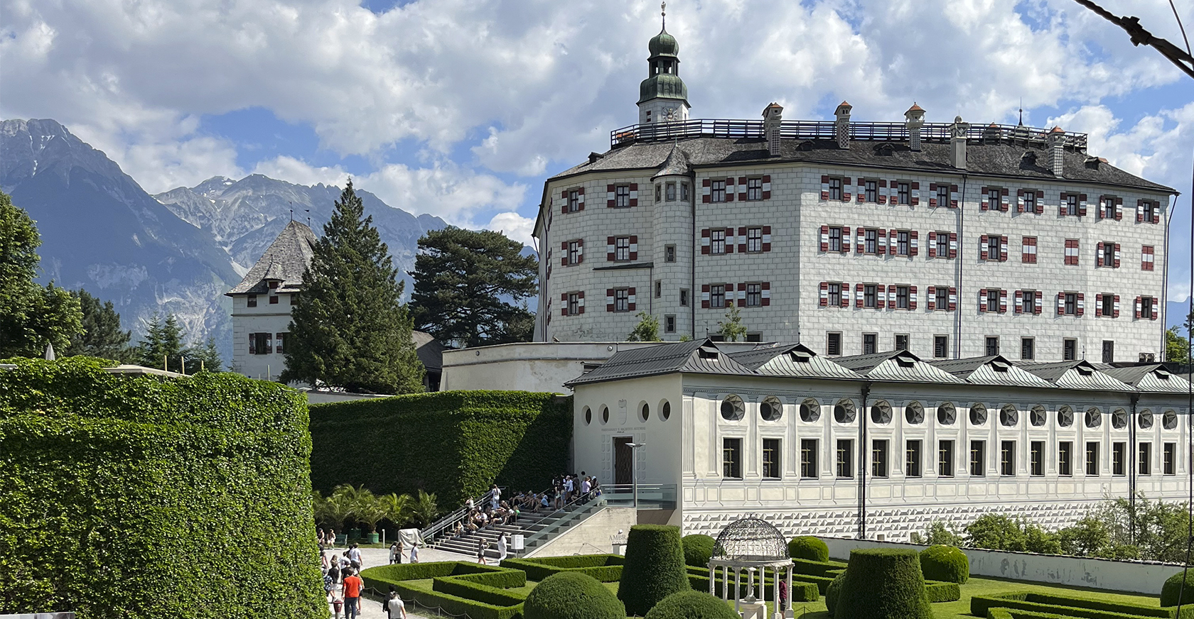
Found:
M 626 607 L 597 578 L 561 571 L 543 578 L 523 602 L 525 619 L 626 619 Z

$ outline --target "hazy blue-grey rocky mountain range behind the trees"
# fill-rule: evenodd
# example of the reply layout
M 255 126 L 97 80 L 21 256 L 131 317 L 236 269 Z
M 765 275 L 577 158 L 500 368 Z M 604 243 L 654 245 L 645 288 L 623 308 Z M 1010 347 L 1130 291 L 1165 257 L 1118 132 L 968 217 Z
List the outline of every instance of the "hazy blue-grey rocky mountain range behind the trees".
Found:
M 0 191 L 37 222 L 43 281 L 111 301 L 134 340 L 154 312 L 173 312 L 190 341 L 208 336 L 232 359 L 230 303 L 240 281 L 290 221 L 328 221 L 340 187 L 252 174 L 147 193 L 103 151 L 50 119 L 0 120 Z M 357 190 L 394 265 L 411 283 L 417 242 L 447 225 Z

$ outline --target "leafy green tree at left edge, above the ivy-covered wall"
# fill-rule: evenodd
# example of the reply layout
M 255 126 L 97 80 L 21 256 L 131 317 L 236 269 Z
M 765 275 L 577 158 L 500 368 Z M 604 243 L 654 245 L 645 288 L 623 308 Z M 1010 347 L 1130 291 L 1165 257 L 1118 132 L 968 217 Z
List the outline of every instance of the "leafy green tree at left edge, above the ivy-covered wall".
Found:
M 29 213 L 0 192 L 0 358 L 66 351 L 82 332 L 79 301 L 54 283 L 33 281 L 42 237 Z

